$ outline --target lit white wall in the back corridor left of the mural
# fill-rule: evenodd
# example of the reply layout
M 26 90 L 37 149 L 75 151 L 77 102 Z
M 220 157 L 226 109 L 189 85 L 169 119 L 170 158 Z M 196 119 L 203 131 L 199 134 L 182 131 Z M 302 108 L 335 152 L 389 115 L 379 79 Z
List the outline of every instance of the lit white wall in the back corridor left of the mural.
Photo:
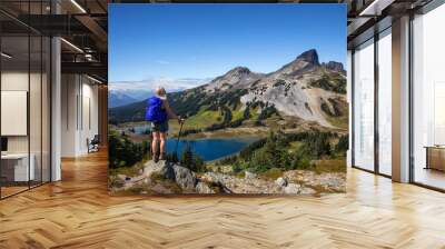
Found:
M 61 156 L 88 153 L 87 139 L 99 132 L 98 87 L 85 76 L 62 74 Z

